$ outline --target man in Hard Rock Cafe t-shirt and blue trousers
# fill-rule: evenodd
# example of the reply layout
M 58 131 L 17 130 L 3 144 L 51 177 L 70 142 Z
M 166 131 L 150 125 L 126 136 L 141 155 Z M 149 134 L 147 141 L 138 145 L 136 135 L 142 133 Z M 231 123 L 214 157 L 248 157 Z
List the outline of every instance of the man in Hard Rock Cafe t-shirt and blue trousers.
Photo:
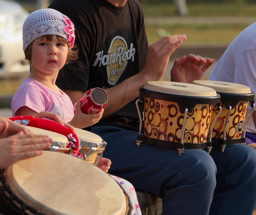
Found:
M 79 48 L 79 59 L 60 70 L 57 86 L 73 103 L 94 87 L 108 94 L 103 117 L 91 132 L 107 142 L 104 156 L 112 161 L 110 174 L 130 181 L 136 190 L 163 198 L 162 215 L 252 214 L 256 203 L 253 148 L 233 144 L 223 153 L 218 148 L 210 155 L 192 149 L 179 156 L 176 149 L 136 145 L 139 87 L 161 78 L 170 55 L 186 36 L 164 37 L 148 47 L 143 12 L 136 0 L 53 0 L 49 8 L 73 21 Z M 193 54 L 183 56 L 175 60 L 171 81 L 201 79 L 213 62 Z

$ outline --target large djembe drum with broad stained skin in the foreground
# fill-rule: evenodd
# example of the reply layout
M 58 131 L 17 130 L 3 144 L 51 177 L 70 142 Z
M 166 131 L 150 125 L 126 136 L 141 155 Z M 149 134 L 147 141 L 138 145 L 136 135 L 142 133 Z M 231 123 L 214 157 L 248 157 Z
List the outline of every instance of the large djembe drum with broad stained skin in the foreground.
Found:
M 9 166 L 0 177 L 1 213 L 20 215 L 126 215 L 129 199 L 98 167 L 63 153 Z

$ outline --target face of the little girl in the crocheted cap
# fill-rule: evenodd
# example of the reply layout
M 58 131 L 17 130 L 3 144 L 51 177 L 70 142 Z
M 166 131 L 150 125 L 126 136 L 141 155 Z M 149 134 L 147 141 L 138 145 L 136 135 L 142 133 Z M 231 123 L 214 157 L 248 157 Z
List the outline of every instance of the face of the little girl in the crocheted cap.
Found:
M 67 60 L 68 45 L 60 42 L 56 35 L 52 41 L 45 37 L 33 41 L 31 48 L 31 72 L 52 75 L 58 74 Z

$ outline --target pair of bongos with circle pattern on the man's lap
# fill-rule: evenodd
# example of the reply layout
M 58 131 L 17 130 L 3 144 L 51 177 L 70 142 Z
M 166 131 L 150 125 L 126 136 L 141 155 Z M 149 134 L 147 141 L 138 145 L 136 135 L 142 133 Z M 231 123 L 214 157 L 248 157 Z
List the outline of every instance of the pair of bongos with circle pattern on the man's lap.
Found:
M 137 145 L 144 141 L 177 148 L 181 155 L 185 149 L 207 148 L 210 152 L 212 143 L 221 145 L 222 151 L 226 145 L 245 143 L 254 97 L 249 87 L 228 82 L 147 82 L 136 101 L 140 118 Z M 252 110 L 245 119 L 248 101 Z M 144 102 L 143 118 L 139 102 Z

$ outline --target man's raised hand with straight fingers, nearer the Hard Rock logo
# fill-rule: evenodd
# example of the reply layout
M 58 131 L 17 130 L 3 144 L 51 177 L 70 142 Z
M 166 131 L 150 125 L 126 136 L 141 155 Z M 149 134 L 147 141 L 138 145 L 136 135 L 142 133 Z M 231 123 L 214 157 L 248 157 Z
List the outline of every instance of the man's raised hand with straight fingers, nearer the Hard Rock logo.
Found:
M 140 72 L 145 73 L 148 81 L 158 81 L 164 74 L 169 57 L 186 40 L 186 35 L 172 35 L 163 37 L 149 46 L 146 64 Z

